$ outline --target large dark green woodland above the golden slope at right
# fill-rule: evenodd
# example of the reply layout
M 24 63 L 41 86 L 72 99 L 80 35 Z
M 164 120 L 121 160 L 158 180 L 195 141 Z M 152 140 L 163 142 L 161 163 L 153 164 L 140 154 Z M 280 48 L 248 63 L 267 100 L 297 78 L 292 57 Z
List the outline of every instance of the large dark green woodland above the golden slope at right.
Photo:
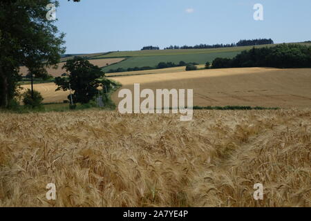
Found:
M 232 59 L 216 58 L 211 68 L 311 68 L 311 46 L 281 44 L 245 50 Z

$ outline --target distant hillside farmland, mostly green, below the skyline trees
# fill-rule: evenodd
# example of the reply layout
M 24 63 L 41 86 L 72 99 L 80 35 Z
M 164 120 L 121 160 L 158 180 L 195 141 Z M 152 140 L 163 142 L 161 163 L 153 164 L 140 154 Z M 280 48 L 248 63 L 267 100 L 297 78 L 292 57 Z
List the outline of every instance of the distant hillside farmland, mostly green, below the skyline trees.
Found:
M 299 43 L 303 45 L 311 45 L 310 43 Z M 256 48 L 270 47 L 274 45 L 255 46 Z M 242 50 L 249 50 L 253 46 L 243 46 L 234 48 L 209 48 L 209 49 L 182 49 L 182 50 L 137 50 L 137 51 L 120 51 L 120 52 L 100 52 L 93 54 L 78 55 L 79 57 L 86 57 L 91 64 L 97 65 L 104 72 L 117 68 L 135 68 L 143 66 L 154 67 L 160 62 L 173 62 L 178 64 L 180 61 L 196 62 L 200 65 L 207 61 L 213 61 L 216 57 L 232 58 L 240 53 Z M 48 74 L 53 77 L 59 77 L 64 73 L 62 66 L 64 62 L 71 57 L 63 57 L 57 69 L 47 68 Z M 107 66 L 108 64 L 108 66 Z M 179 70 L 178 70 L 179 71 Z M 28 70 L 21 67 L 20 73 L 25 76 Z M 148 73 L 160 73 L 162 71 L 152 70 Z M 122 75 L 125 73 L 122 73 Z M 119 75 L 119 74 L 118 74 Z M 109 76 L 109 75 L 107 75 Z

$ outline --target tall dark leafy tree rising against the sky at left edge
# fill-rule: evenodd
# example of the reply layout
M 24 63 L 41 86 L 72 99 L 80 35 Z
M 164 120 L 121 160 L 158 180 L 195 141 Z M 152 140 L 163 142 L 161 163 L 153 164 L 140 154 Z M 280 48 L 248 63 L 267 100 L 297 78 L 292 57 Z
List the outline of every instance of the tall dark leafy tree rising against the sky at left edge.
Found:
M 0 107 L 6 108 L 15 95 L 19 66 L 42 77 L 65 52 L 64 34 L 46 19 L 49 3 L 59 5 L 50 0 L 0 1 Z

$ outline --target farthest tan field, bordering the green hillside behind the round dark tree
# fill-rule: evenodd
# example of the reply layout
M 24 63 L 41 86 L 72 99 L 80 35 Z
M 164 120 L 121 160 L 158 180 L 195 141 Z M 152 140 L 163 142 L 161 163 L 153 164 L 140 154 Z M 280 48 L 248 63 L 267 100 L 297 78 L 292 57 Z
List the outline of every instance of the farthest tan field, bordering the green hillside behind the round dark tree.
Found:
M 91 64 L 95 65 L 95 66 L 99 66 L 100 68 L 111 65 L 111 64 L 115 64 L 118 63 L 120 61 L 123 61 L 124 58 L 120 57 L 120 58 L 111 58 L 111 59 L 90 59 L 88 61 L 91 62 Z M 58 68 L 54 69 L 54 68 L 46 68 L 46 70 L 48 71 L 49 75 L 52 75 L 53 77 L 60 77 L 62 74 L 66 73 L 66 70 L 62 69 L 62 67 L 64 66 L 65 62 L 61 62 L 58 64 Z M 22 66 L 19 70 L 19 72 L 25 76 L 28 73 L 28 68 L 26 68 L 25 66 Z

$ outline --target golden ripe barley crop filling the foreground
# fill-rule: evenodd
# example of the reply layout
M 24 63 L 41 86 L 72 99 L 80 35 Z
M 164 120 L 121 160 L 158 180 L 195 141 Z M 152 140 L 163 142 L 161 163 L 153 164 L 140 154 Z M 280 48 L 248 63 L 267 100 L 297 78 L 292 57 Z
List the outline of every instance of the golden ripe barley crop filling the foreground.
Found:
M 310 109 L 0 113 L 0 206 L 311 206 L 310 149 Z

